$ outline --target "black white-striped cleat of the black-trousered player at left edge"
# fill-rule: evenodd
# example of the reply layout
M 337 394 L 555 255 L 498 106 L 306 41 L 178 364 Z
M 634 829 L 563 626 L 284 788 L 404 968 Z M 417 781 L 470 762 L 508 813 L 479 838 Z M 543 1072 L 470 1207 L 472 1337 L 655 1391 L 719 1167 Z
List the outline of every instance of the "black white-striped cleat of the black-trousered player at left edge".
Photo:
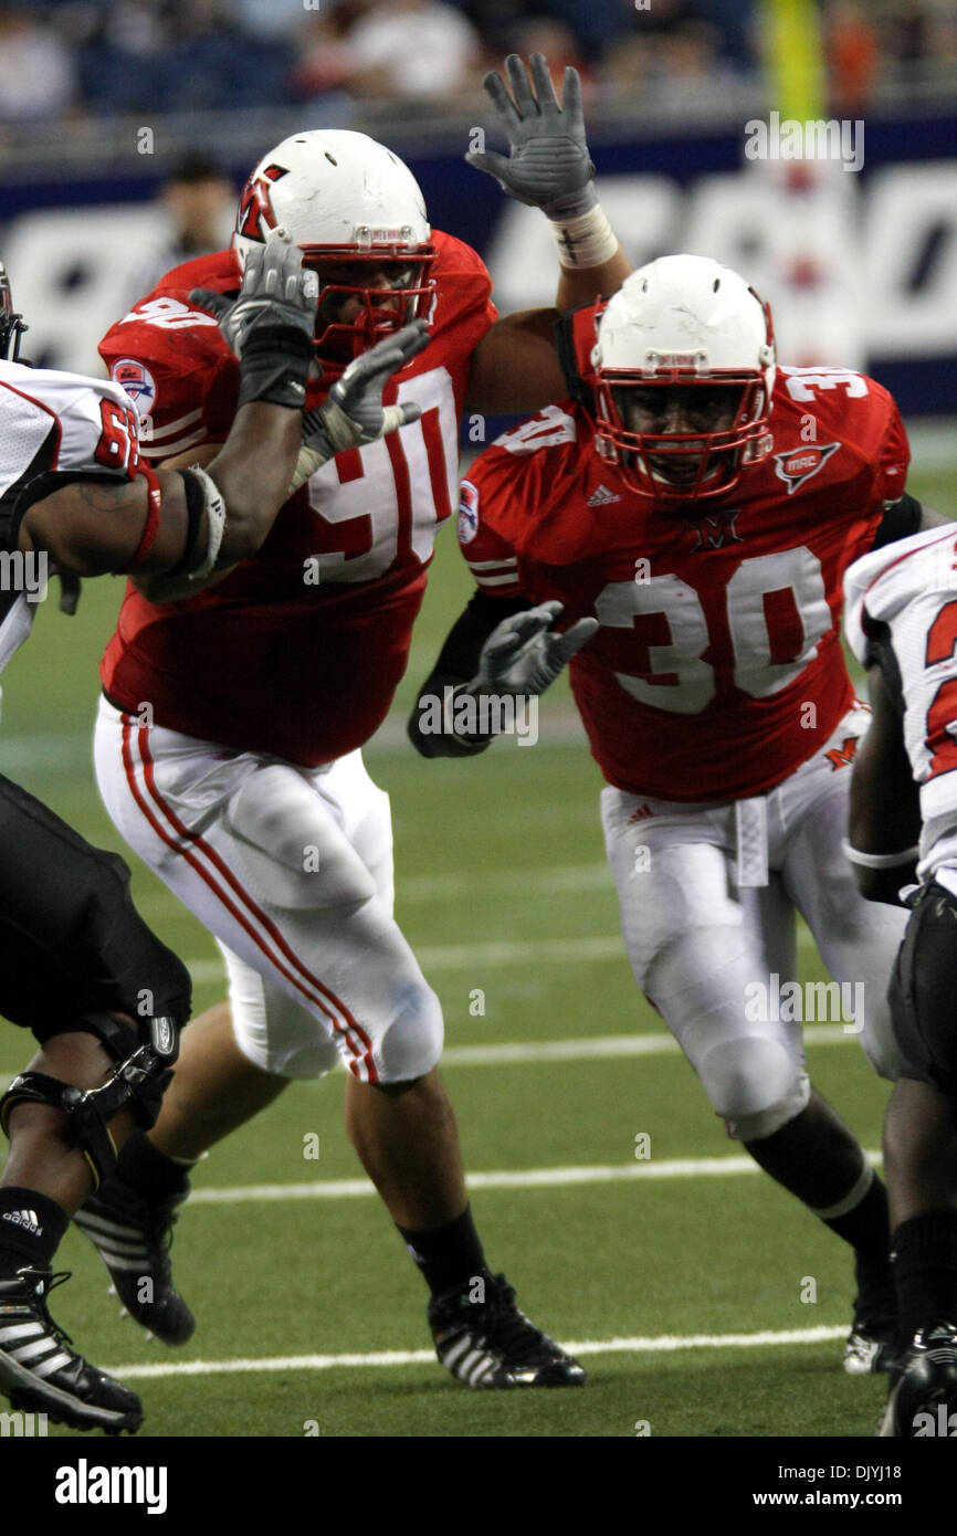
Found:
M 0 1392 L 14 1409 L 55 1424 L 135 1435 L 143 1422 L 135 1392 L 77 1355 L 46 1310 L 48 1293 L 65 1279 L 66 1272 L 29 1267 L 0 1279 Z

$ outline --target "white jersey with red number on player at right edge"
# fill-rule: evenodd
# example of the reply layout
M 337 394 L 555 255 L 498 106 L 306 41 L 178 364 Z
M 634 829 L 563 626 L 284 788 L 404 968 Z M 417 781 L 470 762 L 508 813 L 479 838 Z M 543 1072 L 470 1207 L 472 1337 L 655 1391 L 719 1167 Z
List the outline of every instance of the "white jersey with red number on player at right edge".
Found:
M 856 561 L 845 602 L 857 660 L 882 665 L 903 713 L 923 820 L 917 877 L 957 895 L 957 527 Z

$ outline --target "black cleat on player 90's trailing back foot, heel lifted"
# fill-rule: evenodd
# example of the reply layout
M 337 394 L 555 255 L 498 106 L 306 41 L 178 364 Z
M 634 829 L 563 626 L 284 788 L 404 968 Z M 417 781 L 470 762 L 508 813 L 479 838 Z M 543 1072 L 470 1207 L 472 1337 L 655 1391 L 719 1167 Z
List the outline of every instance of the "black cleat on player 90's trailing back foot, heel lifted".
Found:
M 95 1244 L 129 1315 L 163 1344 L 184 1344 L 197 1321 L 172 1283 L 169 1249 L 177 1206 L 189 1190 L 147 1201 L 118 1178 L 100 1186 L 74 1221 Z

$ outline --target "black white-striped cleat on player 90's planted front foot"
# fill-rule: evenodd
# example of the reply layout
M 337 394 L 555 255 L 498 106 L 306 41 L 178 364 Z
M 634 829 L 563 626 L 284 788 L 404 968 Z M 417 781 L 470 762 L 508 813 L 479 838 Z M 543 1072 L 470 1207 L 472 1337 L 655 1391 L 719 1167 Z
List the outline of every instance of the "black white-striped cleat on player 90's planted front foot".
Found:
M 504 1275 L 476 1275 L 435 1296 L 429 1327 L 439 1361 L 467 1387 L 585 1385 L 578 1361 L 519 1312 Z

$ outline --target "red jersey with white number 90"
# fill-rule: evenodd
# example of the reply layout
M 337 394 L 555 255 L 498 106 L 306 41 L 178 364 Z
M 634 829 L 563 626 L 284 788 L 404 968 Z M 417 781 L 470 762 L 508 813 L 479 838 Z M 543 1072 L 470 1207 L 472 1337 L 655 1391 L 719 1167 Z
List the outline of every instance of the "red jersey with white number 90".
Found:
M 384 392 L 419 421 L 324 464 L 280 511 L 263 548 L 184 602 L 127 588 L 103 659 L 109 697 L 158 725 L 316 766 L 361 746 L 406 670 L 438 524 L 455 505 L 458 416 L 472 352 L 495 319 L 479 257 L 433 230 L 429 347 Z M 175 267 L 100 352 L 135 398 L 154 462 L 221 441 L 238 364 L 194 287 L 240 286 L 230 250 Z M 309 406 L 324 390 L 310 387 Z

